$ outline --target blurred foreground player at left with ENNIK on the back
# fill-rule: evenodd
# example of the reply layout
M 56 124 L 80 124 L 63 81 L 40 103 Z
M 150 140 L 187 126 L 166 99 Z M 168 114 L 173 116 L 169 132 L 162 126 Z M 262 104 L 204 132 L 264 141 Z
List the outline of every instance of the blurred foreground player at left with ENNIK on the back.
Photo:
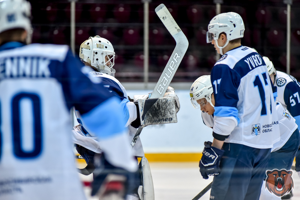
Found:
M 108 162 L 135 172 L 120 101 L 81 72 L 68 46 L 29 44 L 30 17 L 29 2 L 0 2 L 0 199 L 85 199 L 69 110 L 76 106 Z M 111 173 L 100 193 L 116 182 L 126 187 L 124 176 Z

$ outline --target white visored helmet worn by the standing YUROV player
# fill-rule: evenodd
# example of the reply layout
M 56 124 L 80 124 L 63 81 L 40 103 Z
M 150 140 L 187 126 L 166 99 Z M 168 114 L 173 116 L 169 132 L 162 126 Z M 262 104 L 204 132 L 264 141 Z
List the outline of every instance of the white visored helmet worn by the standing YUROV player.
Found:
M 208 31 L 206 32 L 206 42 L 210 43 L 215 40 L 217 47 L 220 49 L 220 54 L 223 55 L 222 49 L 228 45 L 230 40 L 244 37 L 244 22 L 238 13 L 229 12 L 221 13 L 214 18 L 208 24 Z M 227 42 L 223 47 L 218 45 L 218 39 L 220 33 L 226 33 Z

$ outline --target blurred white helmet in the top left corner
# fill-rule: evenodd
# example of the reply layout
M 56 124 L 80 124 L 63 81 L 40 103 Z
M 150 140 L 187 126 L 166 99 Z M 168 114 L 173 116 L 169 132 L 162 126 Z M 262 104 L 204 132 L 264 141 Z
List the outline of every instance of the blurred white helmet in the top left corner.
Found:
M 27 31 L 26 43 L 31 43 L 31 4 L 26 0 L 0 0 L 0 33 L 24 28 Z

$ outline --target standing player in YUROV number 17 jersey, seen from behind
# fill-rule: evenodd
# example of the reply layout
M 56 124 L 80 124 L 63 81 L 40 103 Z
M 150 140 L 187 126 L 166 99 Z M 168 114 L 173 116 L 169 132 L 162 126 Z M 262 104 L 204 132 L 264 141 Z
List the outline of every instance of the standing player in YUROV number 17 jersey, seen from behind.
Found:
M 222 55 L 211 71 L 214 141 L 205 142 L 199 163 L 203 178 L 217 175 L 211 199 L 258 200 L 270 150 L 280 140 L 267 67 L 255 50 L 241 45 L 244 30 L 233 12 L 208 25 L 207 42 Z

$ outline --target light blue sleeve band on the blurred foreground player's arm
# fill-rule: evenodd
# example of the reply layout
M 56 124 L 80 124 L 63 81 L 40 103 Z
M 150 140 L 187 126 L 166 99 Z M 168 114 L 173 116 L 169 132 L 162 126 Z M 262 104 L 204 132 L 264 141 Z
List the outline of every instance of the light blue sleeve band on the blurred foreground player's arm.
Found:
M 124 133 L 125 121 L 118 97 L 111 97 L 88 113 L 82 115 L 81 120 L 85 129 L 92 136 L 108 139 Z

